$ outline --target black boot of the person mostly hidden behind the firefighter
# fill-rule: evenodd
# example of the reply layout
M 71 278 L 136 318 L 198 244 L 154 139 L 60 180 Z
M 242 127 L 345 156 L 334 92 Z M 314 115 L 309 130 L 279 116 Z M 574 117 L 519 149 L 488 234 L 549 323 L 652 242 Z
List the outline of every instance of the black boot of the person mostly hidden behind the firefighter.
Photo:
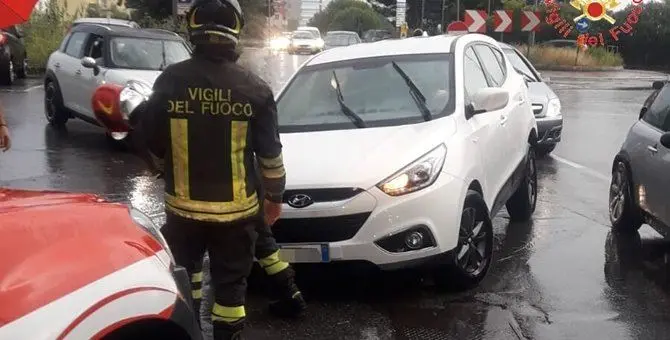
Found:
M 280 318 L 297 318 L 307 309 L 294 275 L 293 268 L 288 267 L 270 276 L 270 314 Z

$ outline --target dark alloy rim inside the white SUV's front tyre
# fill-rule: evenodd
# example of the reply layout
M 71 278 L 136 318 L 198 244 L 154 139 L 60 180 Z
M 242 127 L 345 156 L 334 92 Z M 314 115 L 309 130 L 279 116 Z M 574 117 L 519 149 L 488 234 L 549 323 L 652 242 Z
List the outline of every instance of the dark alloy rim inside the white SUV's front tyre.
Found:
M 484 223 L 477 219 L 475 208 L 463 210 L 456 262 L 465 273 L 473 277 L 481 274 L 488 262 L 488 235 Z

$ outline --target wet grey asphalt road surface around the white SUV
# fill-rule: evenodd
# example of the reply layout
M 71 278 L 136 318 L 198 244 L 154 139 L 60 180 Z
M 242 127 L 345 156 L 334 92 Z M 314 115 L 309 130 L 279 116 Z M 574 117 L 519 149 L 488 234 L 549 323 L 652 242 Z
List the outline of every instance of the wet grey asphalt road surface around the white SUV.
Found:
M 247 63 L 278 89 L 304 56 L 249 50 Z M 299 271 L 310 311 L 278 321 L 250 294 L 251 339 L 667 339 L 670 243 L 611 234 L 609 172 L 658 74 L 546 72 L 563 104 L 563 141 L 539 161 L 533 222 L 494 220 L 495 262 L 480 287 L 445 293 L 412 272 Z M 40 80 L 0 88 L 13 149 L 0 186 L 102 193 L 162 218 L 161 184 L 139 159 L 114 150 L 101 129 L 47 127 Z M 638 88 L 621 90 L 619 87 Z M 642 89 L 645 88 L 645 89 Z

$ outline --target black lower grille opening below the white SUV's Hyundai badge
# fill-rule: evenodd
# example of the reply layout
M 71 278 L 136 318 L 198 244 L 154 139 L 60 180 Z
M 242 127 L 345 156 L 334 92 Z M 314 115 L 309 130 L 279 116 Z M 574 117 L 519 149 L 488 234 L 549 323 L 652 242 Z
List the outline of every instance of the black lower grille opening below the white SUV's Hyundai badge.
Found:
M 321 243 L 348 240 L 356 235 L 369 212 L 353 215 L 280 219 L 272 226 L 279 243 Z

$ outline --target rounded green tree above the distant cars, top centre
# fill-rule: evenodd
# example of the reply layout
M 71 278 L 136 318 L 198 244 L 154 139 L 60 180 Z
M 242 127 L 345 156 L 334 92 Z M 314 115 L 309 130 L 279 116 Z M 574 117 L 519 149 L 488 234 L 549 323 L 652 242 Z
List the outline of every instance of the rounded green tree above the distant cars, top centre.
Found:
M 358 0 L 333 0 L 323 11 L 316 13 L 308 25 L 318 27 L 321 32 L 343 30 L 359 35 L 369 29 L 393 29 L 384 16 L 368 3 Z

